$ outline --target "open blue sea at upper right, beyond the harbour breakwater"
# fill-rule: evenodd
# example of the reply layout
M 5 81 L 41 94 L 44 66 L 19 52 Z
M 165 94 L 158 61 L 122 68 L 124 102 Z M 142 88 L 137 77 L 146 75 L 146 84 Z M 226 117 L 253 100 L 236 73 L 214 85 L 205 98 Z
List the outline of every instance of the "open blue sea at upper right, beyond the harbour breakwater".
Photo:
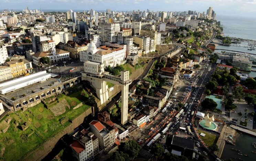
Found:
M 224 36 L 256 40 L 256 16 L 218 15 L 217 21 L 223 25 Z

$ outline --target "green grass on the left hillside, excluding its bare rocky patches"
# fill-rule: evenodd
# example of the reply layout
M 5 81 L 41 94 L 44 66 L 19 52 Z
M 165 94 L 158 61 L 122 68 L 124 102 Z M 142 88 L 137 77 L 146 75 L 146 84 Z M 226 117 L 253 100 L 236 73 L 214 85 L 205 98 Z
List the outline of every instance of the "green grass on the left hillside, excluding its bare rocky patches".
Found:
M 88 97 L 86 92 L 85 96 L 81 95 L 81 92 L 85 91 L 80 90 L 69 96 L 64 95 L 61 99 L 66 99 L 68 103 L 75 101 L 78 104 L 86 101 Z M 39 103 L 26 111 L 20 110 L 15 113 L 10 113 L 9 116 L 4 116 L 0 125 L 6 125 L 4 122 L 6 122 L 8 118 L 12 120 L 7 132 L 0 134 L 0 143 L 5 147 L 1 160 L 22 159 L 27 153 L 41 146 L 47 139 L 54 137 L 71 124 L 69 121 L 61 124 L 60 119 L 67 117 L 69 120 L 73 120 L 88 108 L 90 108 L 90 106 L 86 104 L 77 109 L 73 109 L 72 106 L 71 109 L 66 107 L 65 113 L 54 116 L 51 110 L 47 110 L 44 107 L 43 103 Z M 20 126 L 24 122 L 27 122 L 29 127 L 22 131 Z M 16 123 L 18 124 L 17 127 Z

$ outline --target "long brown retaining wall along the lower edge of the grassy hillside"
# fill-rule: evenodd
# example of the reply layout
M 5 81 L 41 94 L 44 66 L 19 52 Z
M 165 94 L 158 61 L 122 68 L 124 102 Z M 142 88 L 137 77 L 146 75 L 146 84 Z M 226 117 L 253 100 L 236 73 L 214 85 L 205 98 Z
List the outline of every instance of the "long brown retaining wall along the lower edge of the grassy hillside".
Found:
M 93 107 L 89 108 L 84 113 L 76 117 L 72 121 L 72 123 L 69 126 L 67 126 L 62 132 L 47 140 L 43 145 L 39 146 L 34 151 L 30 152 L 26 157 L 24 157 L 21 160 L 42 160 L 54 148 L 55 144 L 60 140 L 60 138 L 62 138 L 64 135 L 69 135 L 76 127 L 81 125 L 84 122 L 85 117 L 92 114 L 92 112 Z

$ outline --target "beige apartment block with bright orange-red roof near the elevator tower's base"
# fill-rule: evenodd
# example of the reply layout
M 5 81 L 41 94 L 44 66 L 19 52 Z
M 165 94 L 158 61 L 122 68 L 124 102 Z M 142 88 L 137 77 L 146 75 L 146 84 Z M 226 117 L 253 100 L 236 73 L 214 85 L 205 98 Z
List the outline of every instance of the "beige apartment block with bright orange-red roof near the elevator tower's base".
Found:
M 99 121 L 93 120 L 89 123 L 90 130 L 98 138 L 99 147 L 107 151 L 115 143 L 115 128 L 105 127 Z

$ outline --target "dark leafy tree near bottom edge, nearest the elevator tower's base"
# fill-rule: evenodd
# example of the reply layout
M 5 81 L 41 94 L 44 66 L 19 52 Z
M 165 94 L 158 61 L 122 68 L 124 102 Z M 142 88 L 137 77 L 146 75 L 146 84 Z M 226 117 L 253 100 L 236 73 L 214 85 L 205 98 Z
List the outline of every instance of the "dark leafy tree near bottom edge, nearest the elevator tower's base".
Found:
M 130 157 L 137 157 L 141 147 L 134 140 L 122 142 L 119 146 L 119 151 L 126 152 Z

